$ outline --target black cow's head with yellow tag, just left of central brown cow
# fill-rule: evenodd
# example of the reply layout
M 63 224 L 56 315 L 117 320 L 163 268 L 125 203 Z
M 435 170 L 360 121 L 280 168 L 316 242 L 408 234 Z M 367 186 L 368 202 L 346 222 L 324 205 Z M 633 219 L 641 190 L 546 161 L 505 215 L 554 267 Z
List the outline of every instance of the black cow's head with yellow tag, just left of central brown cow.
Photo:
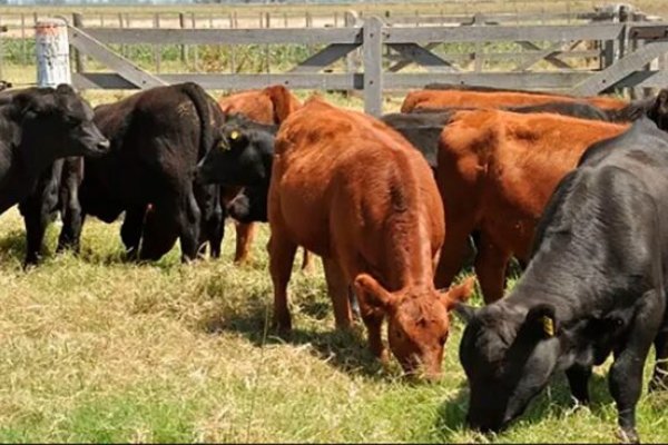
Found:
M 217 146 L 197 165 L 196 179 L 225 186 L 268 185 L 276 127 L 232 115 L 219 131 Z

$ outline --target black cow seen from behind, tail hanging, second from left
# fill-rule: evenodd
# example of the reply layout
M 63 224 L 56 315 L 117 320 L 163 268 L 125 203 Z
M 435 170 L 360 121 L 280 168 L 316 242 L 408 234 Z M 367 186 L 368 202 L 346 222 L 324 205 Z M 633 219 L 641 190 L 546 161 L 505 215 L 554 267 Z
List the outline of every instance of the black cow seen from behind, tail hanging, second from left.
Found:
M 132 258 L 159 259 L 177 239 L 183 260 L 207 240 L 218 255 L 219 190 L 193 182 L 197 161 L 218 144 L 216 101 L 191 82 L 158 87 L 97 107 L 95 121 L 111 151 L 86 161 L 84 214 L 111 222 L 125 211 L 120 235 Z

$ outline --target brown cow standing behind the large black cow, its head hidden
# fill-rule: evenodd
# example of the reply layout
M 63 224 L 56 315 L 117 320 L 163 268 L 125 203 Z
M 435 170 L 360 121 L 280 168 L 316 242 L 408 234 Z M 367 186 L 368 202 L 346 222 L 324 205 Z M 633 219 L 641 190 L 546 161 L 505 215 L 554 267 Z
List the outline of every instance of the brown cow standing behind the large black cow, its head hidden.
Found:
M 536 224 L 557 184 L 587 147 L 627 128 L 550 113 L 458 111 L 439 146 L 436 181 L 448 233 L 436 286 L 451 283 L 469 234 L 479 230 L 475 273 L 484 300 L 501 298 L 508 260 L 528 259 Z

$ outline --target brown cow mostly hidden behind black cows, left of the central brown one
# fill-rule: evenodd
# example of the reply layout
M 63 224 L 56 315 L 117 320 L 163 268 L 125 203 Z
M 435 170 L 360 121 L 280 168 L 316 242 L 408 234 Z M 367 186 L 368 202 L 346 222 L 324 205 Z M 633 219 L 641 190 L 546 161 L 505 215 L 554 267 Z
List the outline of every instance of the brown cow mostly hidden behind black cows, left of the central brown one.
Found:
M 256 122 L 281 125 L 293 111 L 302 107 L 299 100 L 282 85 L 262 90 L 248 90 L 218 99 L 223 112 L 244 115 Z M 240 187 L 224 187 L 223 202 L 227 205 L 240 191 Z M 250 255 L 250 245 L 255 238 L 255 222 L 236 225 L 236 251 L 234 260 L 246 263 Z M 313 269 L 313 261 L 304 250 L 303 269 Z

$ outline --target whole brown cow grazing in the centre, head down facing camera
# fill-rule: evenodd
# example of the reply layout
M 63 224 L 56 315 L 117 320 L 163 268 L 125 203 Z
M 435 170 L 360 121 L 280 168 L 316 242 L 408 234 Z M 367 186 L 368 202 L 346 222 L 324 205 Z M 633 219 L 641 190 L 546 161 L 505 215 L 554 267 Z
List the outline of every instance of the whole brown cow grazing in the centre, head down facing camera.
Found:
M 436 377 L 448 312 L 472 278 L 439 293 L 433 273 L 444 238 L 443 206 L 432 170 L 396 131 L 361 112 L 313 98 L 276 136 L 268 198 L 274 317 L 291 329 L 286 288 L 296 246 L 323 258 L 337 327 L 351 325 L 353 284 L 371 350 L 390 348 L 406 373 Z

